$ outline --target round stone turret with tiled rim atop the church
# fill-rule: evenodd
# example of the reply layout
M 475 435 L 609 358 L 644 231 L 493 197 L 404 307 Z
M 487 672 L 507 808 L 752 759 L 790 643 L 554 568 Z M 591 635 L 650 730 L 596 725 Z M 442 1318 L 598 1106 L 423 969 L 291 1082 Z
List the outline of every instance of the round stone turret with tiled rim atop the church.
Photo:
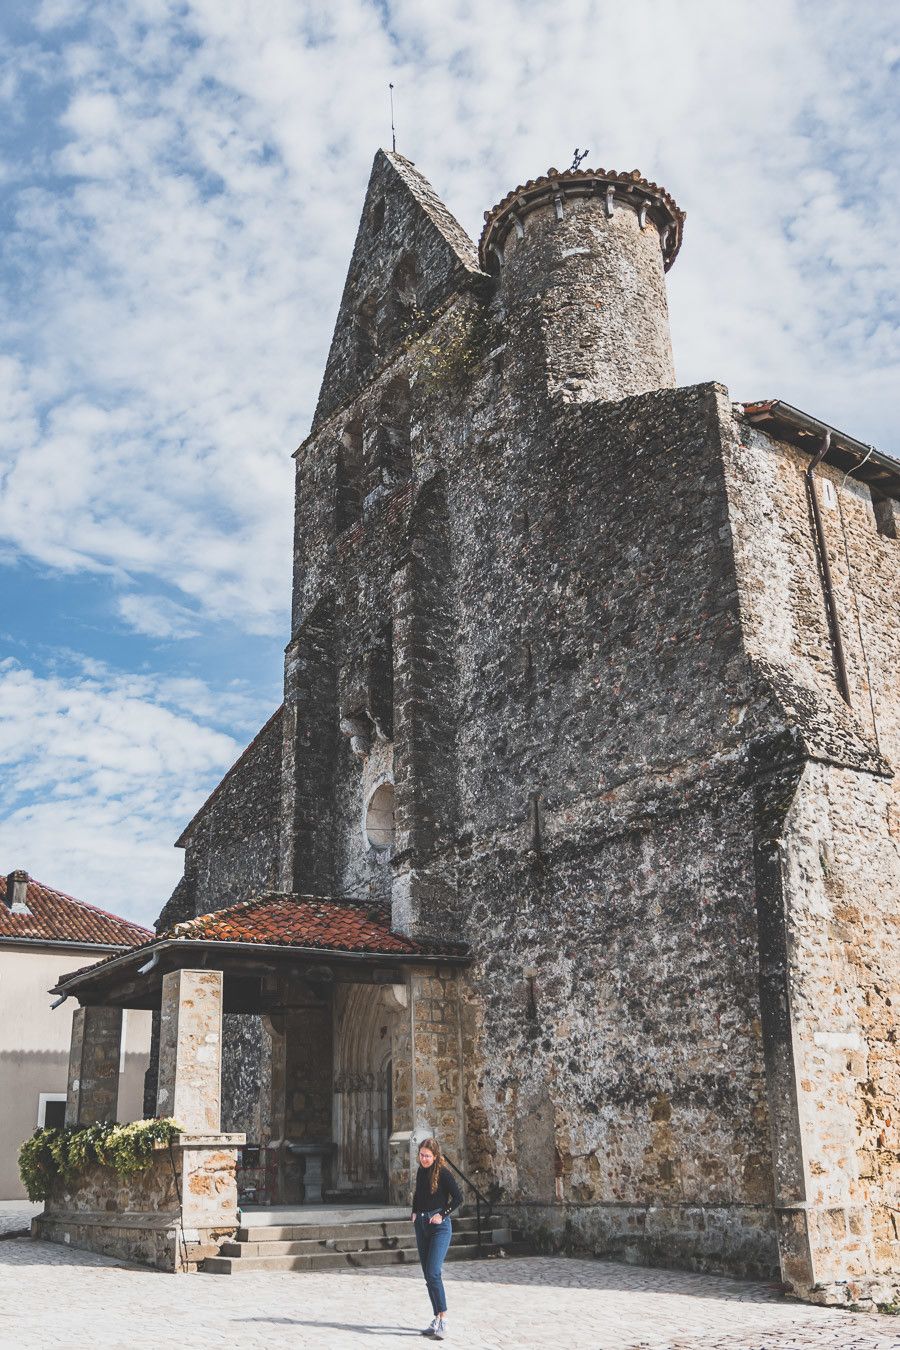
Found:
M 636 170 L 549 169 L 484 212 L 484 271 L 498 278 L 509 339 L 551 394 L 626 398 L 675 385 L 665 271 L 684 212 Z

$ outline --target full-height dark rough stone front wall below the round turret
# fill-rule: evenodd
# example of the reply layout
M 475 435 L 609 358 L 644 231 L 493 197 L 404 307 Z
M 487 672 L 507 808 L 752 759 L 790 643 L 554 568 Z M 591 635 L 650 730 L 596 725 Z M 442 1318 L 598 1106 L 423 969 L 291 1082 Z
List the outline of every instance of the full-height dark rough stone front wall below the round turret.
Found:
M 470 1161 L 551 1242 L 772 1272 L 722 400 L 532 400 L 449 475 Z

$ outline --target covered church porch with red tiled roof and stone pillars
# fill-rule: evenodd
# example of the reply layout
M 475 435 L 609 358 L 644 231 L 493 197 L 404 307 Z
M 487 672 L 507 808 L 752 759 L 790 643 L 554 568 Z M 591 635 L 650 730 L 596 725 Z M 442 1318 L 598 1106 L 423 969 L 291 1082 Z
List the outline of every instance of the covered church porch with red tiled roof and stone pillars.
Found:
M 51 1196 L 36 1231 L 192 1269 L 233 1237 L 242 1207 L 256 1224 L 270 1208 L 406 1206 L 420 1138 L 434 1133 L 463 1158 L 466 961 L 456 944 L 393 933 L 381 906 L 279 894 L 189 919 L 66 976 L 54 992 L 80 1003 L 66 1123 L 112 1119 L 123 1010 L 158 1011 L 155 1114 L 184 1129 L 170 1150 L 178 1165 L 166 1160 L 179 1184 L 161 1208 L 159 1195 L 119 1188 L 104 1199 L 103 1177 L 85 1179 Z M 239 1080 L 242 1064 L 227 1054 L 223 1065 L 224 1017 L 259 1019 L 262 1044 L 258 1100 L 229 1133 L 223 1083 Z M 159 1170 L 162 1184 L 162 1161 Z M 173 1234 L 157 1243 L 162 1260 L 123 1238 L 131 1219 L 152 1226 L 154 1210 Z M 179 1235 L 188 1230 L 198 1233 L 192 1260 Z

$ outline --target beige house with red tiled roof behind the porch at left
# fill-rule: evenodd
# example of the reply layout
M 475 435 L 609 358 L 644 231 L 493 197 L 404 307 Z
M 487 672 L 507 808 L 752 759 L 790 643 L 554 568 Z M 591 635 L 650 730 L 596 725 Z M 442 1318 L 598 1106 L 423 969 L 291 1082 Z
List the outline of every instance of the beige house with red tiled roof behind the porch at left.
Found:
M 39 1125 L 62 1125 L 73 1003 L 53 1008 L 47 992 L 62 975 L 144 942 L 139 923 L 34 882 L 0 876 L 0 1200 L 24 1195 L 18 1150 Z M 120 1120 L 142 1114 L 150 1013 L 125 1014 Z

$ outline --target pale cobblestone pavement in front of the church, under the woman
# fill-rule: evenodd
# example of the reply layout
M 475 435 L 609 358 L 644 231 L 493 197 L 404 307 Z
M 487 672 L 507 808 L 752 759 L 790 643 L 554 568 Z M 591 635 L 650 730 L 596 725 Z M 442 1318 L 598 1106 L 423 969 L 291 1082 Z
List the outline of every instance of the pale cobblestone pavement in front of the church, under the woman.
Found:
M 466 1350 L 900 1350 L 900 1319 L 791 1303 L 764 1284 L 607 1261 L 447 1268 Z M 422 1345 L 417 1269 L 167 1276 L 28 1238 L 0 1243 L 0 1346 L 352 1350 Z

